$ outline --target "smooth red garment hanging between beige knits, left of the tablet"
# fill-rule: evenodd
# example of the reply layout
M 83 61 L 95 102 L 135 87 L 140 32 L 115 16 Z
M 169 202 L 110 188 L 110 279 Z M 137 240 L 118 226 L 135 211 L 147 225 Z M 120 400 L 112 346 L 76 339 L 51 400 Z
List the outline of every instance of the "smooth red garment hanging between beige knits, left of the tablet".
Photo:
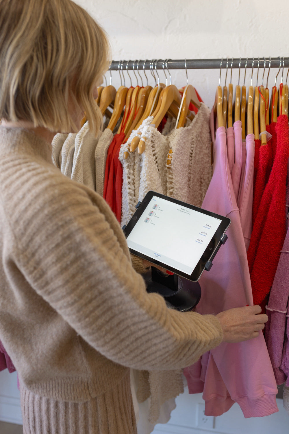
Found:
M 123 143 L 125 133 L 117 133 L 107 152 L 107 161 L 104 174 L 104 194 L 103 197 L 107 201 L 111 210 L 120 222 L 121 214 L 121 191 L 122 191 L 122 167 L 118 160 L 120 145 Z

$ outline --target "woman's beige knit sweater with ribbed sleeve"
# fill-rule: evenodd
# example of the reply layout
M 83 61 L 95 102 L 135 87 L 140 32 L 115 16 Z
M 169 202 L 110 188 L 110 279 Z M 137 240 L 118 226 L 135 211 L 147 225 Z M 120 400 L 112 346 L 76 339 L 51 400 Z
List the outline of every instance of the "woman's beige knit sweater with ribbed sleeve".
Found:
M 0 339 L 22 385 L 81 402 L 128 368 L 178 369 L 217 346 L 214 316 L 146 293 L 101 196 L 52 164 L 51 146 L 0 128 Z

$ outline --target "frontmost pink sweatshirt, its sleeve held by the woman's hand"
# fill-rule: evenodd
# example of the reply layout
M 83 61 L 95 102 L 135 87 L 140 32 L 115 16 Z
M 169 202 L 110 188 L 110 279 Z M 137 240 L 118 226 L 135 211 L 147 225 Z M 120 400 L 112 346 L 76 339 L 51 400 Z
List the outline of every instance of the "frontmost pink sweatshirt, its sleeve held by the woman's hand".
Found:
M 214 258 L 210 272 L 200 279 L 197 312 L 217 314 L 232 307 L 252 305 L 252 290 L 244 237 L 227 161 L 226 132 L 216 132 L 215 170 L 202 207 L 231 219 L 228 240 Z M 203 391 L 205 415 L 218 416 L 234 402 L 245 418 L 278 411 L 276 381 L 263 333 L 236 344 L 222 343 L 185 368 L 190 393 Z

